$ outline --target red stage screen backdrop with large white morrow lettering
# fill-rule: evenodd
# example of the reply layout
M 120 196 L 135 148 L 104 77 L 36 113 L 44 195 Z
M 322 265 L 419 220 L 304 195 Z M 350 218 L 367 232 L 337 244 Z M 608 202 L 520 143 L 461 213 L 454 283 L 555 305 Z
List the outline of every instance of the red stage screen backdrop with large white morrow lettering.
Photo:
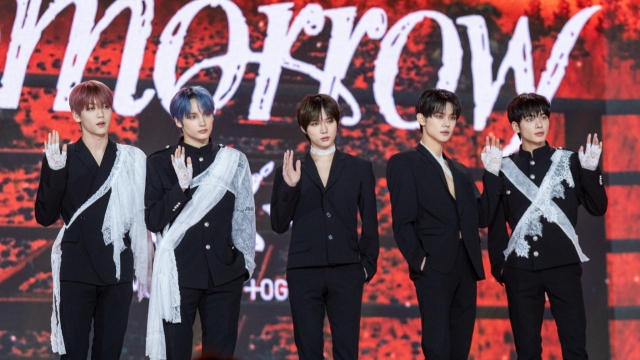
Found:
M 33 202 L 46 134 L 80 137 L 67 98 L 87 79 L 115 89 L 112 139 L 147 154 L 178 140 L 166 111 L 177 89 L 214 93 L 213 141 L 247 154 L 254 174 L 257 268 L 242 298 L 243 359 L 297 358 L 284 279 L 289 234 L 271 231 L 268 203 L 283 151 L 308 147 L 295 119 L 304 95 L 339 100 L 338 146 L 373 161 L 377 176 L 382 248 L 364 291 L 362 359 L 421 357 L 384 179 L 387 159 L 417 144 L 420 92 L 460 96 L 446 152 L 476 179 L 486 135 L 507 151 L 518 146 L 508 101 L 547 96 L 553 146 L 577 150 L 593 132 L 604 139 L 609 210 L 582 211 L 578 229 L 591 258 L 583 265 L 590 355 L 640 358 L 639 14 L 634 0 L 0 0 L 0 358 L 53 357 L 50 248 L 61 224 L 40 227 Z M 131 305 L 125 359 L 144 355 L 147 304 Z M 503 288 L 480 282 L 478 305 L 470 356 L 515 359 Z M 560 359 L 545 314 L 544 358 Z

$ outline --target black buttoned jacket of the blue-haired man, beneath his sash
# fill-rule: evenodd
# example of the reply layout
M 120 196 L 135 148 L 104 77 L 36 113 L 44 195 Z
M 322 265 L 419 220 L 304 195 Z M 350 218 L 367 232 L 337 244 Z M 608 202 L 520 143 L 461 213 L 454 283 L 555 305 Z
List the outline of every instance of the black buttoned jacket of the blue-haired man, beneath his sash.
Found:
M 167 224 L 172 223 L 196 190 L 182 191 L 180 187 L 171 164 L 171 155 L 175 154 L 178 145 L 185 148 L 185 159 L 191 157 L 193 177 L 213 164 L 219 148 L 223 146 L 209 142 L 195 148 L 180 141 L 147 158 L 145 221 L 147 229 L 152 232 L 162 232 Z M 178 284 L 181 287 L 207 289 L 209 274 L 216 286 L 248 275 L 244 255 L 235 248 L 231 238 L 235 200 L 235 195 L 227 191 L 213 209 L 187 230 L 176 247 Z

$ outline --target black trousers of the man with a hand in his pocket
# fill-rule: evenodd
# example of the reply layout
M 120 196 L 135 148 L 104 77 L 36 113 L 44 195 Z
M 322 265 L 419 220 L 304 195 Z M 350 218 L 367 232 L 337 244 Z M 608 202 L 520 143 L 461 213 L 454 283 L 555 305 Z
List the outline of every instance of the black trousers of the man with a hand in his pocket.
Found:
M 443 274 L 429 267 L 412 274 L 422 318 L 422 351 L 428 360 L 466 360 L 476 319 L 476 275 L 462 240 L 455 264 Z

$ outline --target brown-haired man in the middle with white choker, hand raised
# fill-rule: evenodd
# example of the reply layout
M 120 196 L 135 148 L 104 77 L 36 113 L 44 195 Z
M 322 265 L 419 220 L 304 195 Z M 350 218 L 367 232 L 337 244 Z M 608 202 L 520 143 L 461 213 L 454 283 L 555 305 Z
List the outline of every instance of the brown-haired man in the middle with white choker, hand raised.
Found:
M 296 347 L 300 359 L 323 358 L 326 312 L 334 359 L 357 359 L 363 285 L 379 252 L 375 177 L 371 162 L 336 149 L 340 111 L 330 96 L 305 97 L 297 116 L 311 147 L 295 167 L 285 152 L 271 194 L 271 228 L 285 233 L 293 220 L 287 282 Z

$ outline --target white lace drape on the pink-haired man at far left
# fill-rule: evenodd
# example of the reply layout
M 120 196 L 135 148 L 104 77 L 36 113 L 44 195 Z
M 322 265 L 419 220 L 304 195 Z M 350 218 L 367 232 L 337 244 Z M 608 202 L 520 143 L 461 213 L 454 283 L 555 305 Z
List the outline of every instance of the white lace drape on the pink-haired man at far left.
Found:
M 51 269 L 53 277 L 53 312 L 51 314 L 51 347 L 54 353 L 66 354 L 60 323 L 60 265 L 62 259 L 62 238 L 64 232 L 89 206 L 104 196 L 109 190 L 111 196 L 107 205 L 102 233 L 105 244 L 113 244 L 113 260 L 116 278 L 120 280 L 120 253 L 124 251 L 124 234 L 128 231 L 131 249 L 134 252 L 135 273 L 138 277 L 138 298 L 148 290 L 152 246 L 148 240 L 144 222 L 144 185 L 146 156 L 132 146 L 117 144 L 116 160 L 107 180 L 82 206 L 76 210 L 68 224 L 65 224 L 51 249 Z M 125 171 L 122 171 L 126 169 Z M 116 219 L 114 221 L 114 219 Z

